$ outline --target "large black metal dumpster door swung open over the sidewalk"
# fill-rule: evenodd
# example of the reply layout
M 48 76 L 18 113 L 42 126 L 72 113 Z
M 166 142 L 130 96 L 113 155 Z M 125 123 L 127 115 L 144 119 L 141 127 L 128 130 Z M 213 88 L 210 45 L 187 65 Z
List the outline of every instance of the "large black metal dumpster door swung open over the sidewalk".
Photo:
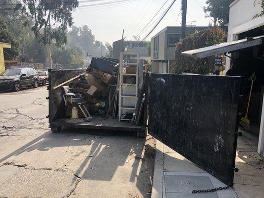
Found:
M 149 133 L 225 183 L 233 183 L 240 77 L 155 74 Z

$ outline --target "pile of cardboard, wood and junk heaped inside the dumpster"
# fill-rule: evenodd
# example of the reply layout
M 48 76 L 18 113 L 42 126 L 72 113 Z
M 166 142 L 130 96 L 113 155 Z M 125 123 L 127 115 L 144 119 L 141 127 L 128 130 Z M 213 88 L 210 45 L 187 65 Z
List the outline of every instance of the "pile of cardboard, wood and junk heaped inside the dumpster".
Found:
M 136 73 L 136 67 L 127 67 L 129 73 Z M 86 72 L 52 88 L 61 90 L 65 103 L 65 116 L 86 118 L 101 116 L 104 119 L 118 114 L 119 60 L 108 58 L 92 58 Z M 135 77 L 123 76 L 126 84 L 135 84 Z M 142 97 L 142 96 L 141 96 Z M 141 105 L 142 108 L 142 105 Z M 127 116 L 127 113 L 123 116 Z M 130 120 L 133 113 L 129 115 Z

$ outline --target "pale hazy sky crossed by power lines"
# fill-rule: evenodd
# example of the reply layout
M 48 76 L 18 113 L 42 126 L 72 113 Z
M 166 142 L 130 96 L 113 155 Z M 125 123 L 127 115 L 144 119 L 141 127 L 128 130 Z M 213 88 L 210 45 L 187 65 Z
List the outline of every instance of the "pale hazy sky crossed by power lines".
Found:
M 112 1 L 118 2 L 111 4 Z M 112 44 L 112 42 L 122 38 L 123 29 L 125 40 L 134 40 L 133 36 L 137 35 L 139 35 L 137 38 L 140 41 L 144 39 L 172 0 L 79 0 L 79 2 L 79 7 L 73 13 L 74 26 L 87 25 L 92 30 L 96 40 Z M 93 5 L 105 2 L 110 3 Z M 187 25 L 208 26 L 211 19 L 205 17 L 206 13 L 200 7 L 205 5 L 206 0 L 188 0 Z M 181 0 L 176 0 L 146 41 L 150 41 L 151 37 L 166 26 L 180 26 L 180 8 Z M 158 14 L 151 21 L 157 12 Z M 150 21 L 151 26 L 149 25 L 143 30 Z M 188 21 L 196 22 L 188 23 Z M 140 33 L 142 30 L 143 32 Z

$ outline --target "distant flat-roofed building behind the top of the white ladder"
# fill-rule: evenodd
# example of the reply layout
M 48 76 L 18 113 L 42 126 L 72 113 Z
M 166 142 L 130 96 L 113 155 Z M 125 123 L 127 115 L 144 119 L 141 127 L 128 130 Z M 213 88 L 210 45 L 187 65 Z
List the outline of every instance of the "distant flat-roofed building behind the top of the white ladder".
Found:
M 149 57 L 148 44 L 150 42 L 144 41 L 124 41 L 124 48 L 127 51 L 138 53 L 139 58 Z M 122 39 L 113 42 L 113 58 L 119 59 L 122 49 Z

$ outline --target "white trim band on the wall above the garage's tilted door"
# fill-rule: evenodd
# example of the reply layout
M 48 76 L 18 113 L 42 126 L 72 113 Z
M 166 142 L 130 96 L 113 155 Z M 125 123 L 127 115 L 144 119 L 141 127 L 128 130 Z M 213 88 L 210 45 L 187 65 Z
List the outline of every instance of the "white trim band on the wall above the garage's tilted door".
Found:
M 232 28 L 228 34 L 240 34 L 242 32 L 247 32 L 249 30 L 258 28 L 264 26 L 264 16 L 260 16 L 257 18 L 254 18 L 246 23 L 243 23 L 239 26 L 236 26 L 234 28 Z

